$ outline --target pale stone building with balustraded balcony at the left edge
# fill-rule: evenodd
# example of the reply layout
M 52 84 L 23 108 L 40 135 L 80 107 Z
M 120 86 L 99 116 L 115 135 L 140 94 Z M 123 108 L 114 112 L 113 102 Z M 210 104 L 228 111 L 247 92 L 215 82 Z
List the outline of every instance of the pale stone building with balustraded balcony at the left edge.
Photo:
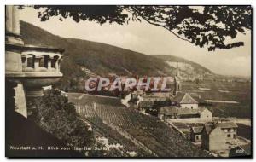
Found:
M 5 7 L 6 109 L 27 117 L 32 100 L 42 96 L 44 86 L 61 77 L 62 49 L 24 44 L 20 37 L 18 6 Z

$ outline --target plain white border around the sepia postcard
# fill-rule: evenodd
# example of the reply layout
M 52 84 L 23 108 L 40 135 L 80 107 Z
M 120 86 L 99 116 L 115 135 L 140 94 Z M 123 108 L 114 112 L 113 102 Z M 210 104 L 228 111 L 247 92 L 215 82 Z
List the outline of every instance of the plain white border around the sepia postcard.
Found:
M 41 1 L 32 1 L 32 0 L 4 0 L 4 1 L 0 1 L 0 3 L 2 4 L 0 6 L 0 15 L 1 15 L 1 20 L 0 20 L 0 32 L 1 32 L 1 59 L 0 59 L 0 76 L 1 76 L 1 80 L 0 80 L 0 93 L 1 93 L 1 97 L 0 97 L 0 103 L 1 103 L 1 107 L 0 107 L 0 114 L 1 114 L 1 118 L 0 118 L 0 143 L 1 143 L 1 147 L 0 147 L 0 161 L 7 161 L 10 159 L 5 158 L 5 151 L 4 151 L 4 130 L 5 130 L 5 126 L 4 126 L 4 5 L 5 4 L 184 4 L 184 5 L 212 5 L 212 4 L 216 4 L 216 5 L 221 5 L 221 4 L 229 4 L 229 5 L 243 5 L 243 4 L 251 4 L 253 5 L 253 8 L 256 6 L 256 1 L 254 0 L 84 0 L 84 1 L 74 1 L 74 0 L 61 0 L 61 1 L 53 1 L 53 0 L 41 0 Z M 255 12 L 255 10 L 254 10 Z M 253 21 L 255 21 L 255 15 L 253 15 Z M 255 32 L 255 31 L 254 31 Z M 253 34 L 253 40 L 254 39 L 254 34 Z M 253 41 L 253 47 L 255 45 L 255 41 Z M 255 57 L 253 57 L 253 62 L 255 62 Z M 253 76 L 255 77 L 255 70 L 253 69 Z M 254 78 L 253 78 L 254 79 Z M 253 82 L 253 80 L 252 80 Z M 255 89 L 253 89 L 254 91 Z M 256 97 L 255 95 L 253 96 L 253 101 L 255 101 Z M 253 107 L 254 109 L 254 107 Z M 256 110 L 253 110 L 253 113 L 255 114 Z M 253 114 L 253 117 L 254 117 Z M 253 124 L 254 125 L 254 124 Z M 255 134 L 253 133 L 253 140 L 255 139 Z M 253 150 L 255 150 L 254 145 L 253 145 Z M 254 152 L 255 153 L 255 152 Z M 254 154 L 253 153 L 253 154 Z M 14 160 L 14 159 L 11 159 Z M 31 161 L 31 159 L 23 159 L 24 161 Z M 35 160 L 35 159 L 32 159 Z M 44 159 L 39 159 L 39 160 L 44 160 Z M 63 159 L 48 159 L 49 161 L 55 161 L 55 160 L 63 160 Z M 68 160 L 73 160 L 73 159 L 68 159 Z M 99 160 L 99 159 L 79 159 L 79 160 Z M 107 161 L 112 161 L 113 159 L 105 159 Z M 133 161 L 137 161 L 137 160 L 148 160 L 148 159 L 116 159 L 118 161 L 121 160 L 133 160 Z M 166 159 L 152 159 L 154 161 L 157 160 L 166 160 Z M 175 160 L 175 161 L 180 161 L 180 159 L 167 159 L 167 160 Z M 182 159 L 183 160 L 201 160 L 201 161 L 207 161 L 207 160 L 214 160 L 214 159 Z M 222 159 L 218 159 L 218 160 L 222 160 Z M 225 161 L 232 161 L 234 159 L 225 159 Z M 242 159 L 240 161 L 247 161 L 246 159 Z

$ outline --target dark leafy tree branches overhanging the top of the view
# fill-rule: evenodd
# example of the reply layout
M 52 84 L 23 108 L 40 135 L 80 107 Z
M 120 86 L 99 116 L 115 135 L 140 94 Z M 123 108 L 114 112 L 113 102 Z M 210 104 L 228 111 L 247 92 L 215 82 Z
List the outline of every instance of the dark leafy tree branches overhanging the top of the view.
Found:
M 241 41 L 230 41 L 238 32 L 251 29 L 251 6 L 56 6 L 35 5 L 40 9 L 38 18 L 42 21 L 51 17 L 60 20 L 67 17 L 74 21 L 96 21 L 99 24 L 117 23 L 123 25 L 130 20 L 146 20 L 154 26 L 161 26 L 178 38 L 199 47 L 231 49 L 244 45 Z

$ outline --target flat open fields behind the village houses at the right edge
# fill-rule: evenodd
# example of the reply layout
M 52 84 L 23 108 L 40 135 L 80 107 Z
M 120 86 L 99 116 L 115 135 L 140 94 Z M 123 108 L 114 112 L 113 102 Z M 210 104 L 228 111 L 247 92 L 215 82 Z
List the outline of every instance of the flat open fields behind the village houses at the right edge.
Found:
M 202 100 L 237 101 L 239 103 L 211 103 L 207 108 L 215 117 L 251 118 L 251 83 L 203 81 L 184 82 L 184 92 L 200 95 Z M 199 90 L 207 88 L 210 90 Z

